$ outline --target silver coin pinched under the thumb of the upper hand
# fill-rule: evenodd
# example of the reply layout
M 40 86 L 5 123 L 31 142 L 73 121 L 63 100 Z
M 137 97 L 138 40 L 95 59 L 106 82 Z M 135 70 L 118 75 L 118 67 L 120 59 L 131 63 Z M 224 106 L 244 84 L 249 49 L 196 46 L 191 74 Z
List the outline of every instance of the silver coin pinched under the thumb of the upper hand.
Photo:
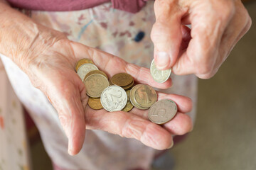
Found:
M 154 81 L 158 83 L 164 83 L 166 80 L 169 79 L 171 75 L 171 69 L 166 69 L 166 70 L 157 69 L 153 59 L 150 65 L 150 74 L 153 77 Z

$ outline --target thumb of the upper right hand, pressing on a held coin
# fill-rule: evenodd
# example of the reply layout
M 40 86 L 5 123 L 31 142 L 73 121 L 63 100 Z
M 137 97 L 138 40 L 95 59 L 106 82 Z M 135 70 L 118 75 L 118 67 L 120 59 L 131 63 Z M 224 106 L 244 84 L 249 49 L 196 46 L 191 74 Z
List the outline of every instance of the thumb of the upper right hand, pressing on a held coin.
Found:
M 156 0 L 154 4 L 156 23 L 151 30 L 154 43 L 154 60 L 158 69 L 170 69 L 180 51 L 182 33 L 181 17 L 184 11 L 174 0 Z

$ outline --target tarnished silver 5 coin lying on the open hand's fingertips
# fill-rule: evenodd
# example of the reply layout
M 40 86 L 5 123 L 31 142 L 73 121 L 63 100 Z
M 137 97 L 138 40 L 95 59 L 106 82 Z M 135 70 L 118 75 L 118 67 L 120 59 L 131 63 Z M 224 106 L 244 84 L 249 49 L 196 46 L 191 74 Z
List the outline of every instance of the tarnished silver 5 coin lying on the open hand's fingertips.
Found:
M 174 101 L 164 99 L 154 103 L 149 108 L 149 120 L 153 123 L 162 125 L 169 122 L 177 113 L 177 106 Z

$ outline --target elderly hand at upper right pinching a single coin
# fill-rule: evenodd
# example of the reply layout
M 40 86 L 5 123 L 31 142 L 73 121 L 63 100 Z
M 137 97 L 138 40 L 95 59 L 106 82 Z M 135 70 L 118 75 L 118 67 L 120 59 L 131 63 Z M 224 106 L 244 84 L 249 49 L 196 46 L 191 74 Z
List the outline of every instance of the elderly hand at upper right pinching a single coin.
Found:
M 156 67 L 201 79 L 213 77 L 252 23 L 240 0 L 156 0 L 154 11 Z

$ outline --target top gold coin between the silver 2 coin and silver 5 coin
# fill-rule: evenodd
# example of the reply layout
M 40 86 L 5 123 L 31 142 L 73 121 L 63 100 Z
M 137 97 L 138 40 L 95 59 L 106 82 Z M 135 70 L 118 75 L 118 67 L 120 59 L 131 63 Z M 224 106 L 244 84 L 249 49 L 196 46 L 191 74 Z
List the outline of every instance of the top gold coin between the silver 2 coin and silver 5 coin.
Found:
M 149 108 L 157 100 L 156 91 L 153 87 L 146 84 L 138 84 L 134 91 L 134 101 L 142 108 Z

